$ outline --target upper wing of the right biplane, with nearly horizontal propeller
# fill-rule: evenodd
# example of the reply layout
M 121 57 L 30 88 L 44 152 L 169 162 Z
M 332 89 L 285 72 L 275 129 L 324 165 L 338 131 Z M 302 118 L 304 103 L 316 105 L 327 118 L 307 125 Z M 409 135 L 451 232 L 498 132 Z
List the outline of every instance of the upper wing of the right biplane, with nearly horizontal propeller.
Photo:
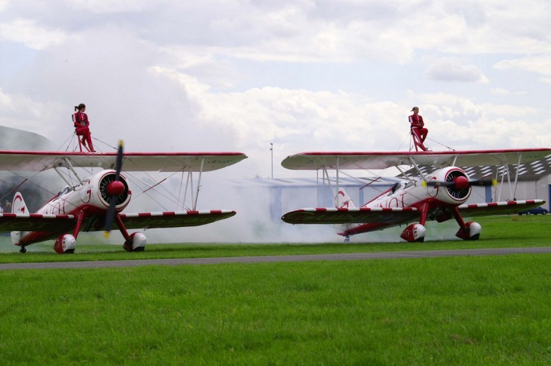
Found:
M 550 164 L 551 149 L 504 149 L 473 151 L 406 151 L 406 152 L 309 152 L 290 155 L 282 166 L 295 170 L 386 169 L 390 166 L 410 165 L 495 166 L 499 164 L 527 164 L 545 160 Z

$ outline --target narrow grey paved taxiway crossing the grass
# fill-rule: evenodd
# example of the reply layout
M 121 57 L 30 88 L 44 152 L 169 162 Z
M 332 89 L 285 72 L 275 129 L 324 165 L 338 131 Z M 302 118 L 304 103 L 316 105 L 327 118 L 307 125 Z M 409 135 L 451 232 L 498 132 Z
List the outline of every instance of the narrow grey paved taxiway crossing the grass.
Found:
M 412 250 L 406 252 L 339 253 L 319 255 L 273 255 L 261 257 L 221 257 L 185 259 L 140 259 L 124 261 L 70 261 L 48 263 L 0 263 L 0 270 L 48 269 L 48 268 L 109 268 L 136 266 L 183 266 L 190 264 L 218 263 L 275 263 L 304 261 L 355 261 L 365 259 L 428 258 L 479 255 L 545 254 L 551 247 L 491 248 L 456 250 Z

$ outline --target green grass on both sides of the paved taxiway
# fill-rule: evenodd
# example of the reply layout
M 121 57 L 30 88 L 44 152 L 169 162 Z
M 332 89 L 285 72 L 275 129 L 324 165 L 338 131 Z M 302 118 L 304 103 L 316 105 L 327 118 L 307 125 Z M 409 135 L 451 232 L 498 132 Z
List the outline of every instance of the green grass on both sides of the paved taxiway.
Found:
M 0 258 L 143 259 L 551 244 L 548 217 L 477 221 L 484 236 L 475 242 L 185 244 L 148 246 L 143 253 L 91 246 L 68 256 L 52 255 L 48 246 Z M 551 363 L 551 255 L 4 270 L 0 291 L 0 360 L 5 364 Z

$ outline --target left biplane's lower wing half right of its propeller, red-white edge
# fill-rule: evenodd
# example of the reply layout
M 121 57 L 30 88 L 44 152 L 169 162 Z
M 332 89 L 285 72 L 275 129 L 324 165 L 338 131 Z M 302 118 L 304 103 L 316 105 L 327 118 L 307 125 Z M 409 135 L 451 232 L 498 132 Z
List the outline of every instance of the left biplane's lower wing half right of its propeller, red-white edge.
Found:
M 119 216 L 127 229 L 134 229 L 199 226 L 227 219 L 235 214 L 236 211 L 211 210 L 158 213 L 121 213 Z

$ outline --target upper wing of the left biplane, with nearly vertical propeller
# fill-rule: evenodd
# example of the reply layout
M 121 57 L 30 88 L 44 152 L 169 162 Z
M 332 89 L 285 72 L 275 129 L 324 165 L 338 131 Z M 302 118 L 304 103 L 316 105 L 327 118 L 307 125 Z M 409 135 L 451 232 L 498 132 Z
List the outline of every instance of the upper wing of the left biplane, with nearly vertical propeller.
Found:
M 70 153 L 52 151 L 0 151 L 0 170 L 43 171 L 55 166 L 112 169 L 116 152 Z M 214 171 L 236 164 L 244 153 L 124 153 L 125 171 Z

